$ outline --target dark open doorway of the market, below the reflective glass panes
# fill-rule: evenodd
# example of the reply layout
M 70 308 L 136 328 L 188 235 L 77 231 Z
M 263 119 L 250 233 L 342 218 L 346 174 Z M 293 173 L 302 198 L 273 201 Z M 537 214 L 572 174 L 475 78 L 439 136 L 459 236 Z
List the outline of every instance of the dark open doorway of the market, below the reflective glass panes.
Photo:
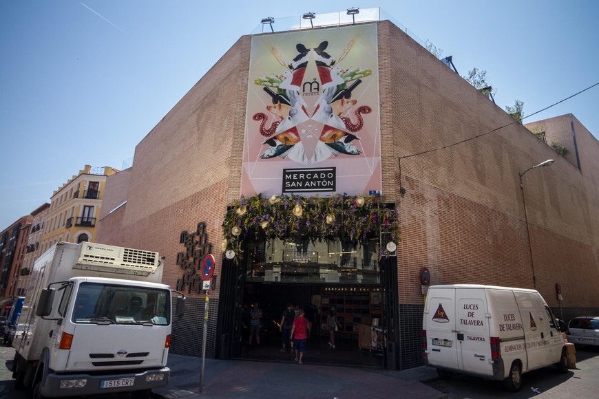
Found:
M 355 287 L 341 284 L 246 283 L 242 336 L 238 358 L 293 361 L 295 355 L 282 349 L 280 321 L 286 304 L 302 308 L 312 328 L 304 361 L 310 364 L 383 367 L 383 330 L 379 327 L 382 294 L 377 285 Z M 251 303 L 262 310 L 260 344 L 249 344 Z M 335 309 L 339 327 L 335 349 L 331 347 L 328 315 Z

